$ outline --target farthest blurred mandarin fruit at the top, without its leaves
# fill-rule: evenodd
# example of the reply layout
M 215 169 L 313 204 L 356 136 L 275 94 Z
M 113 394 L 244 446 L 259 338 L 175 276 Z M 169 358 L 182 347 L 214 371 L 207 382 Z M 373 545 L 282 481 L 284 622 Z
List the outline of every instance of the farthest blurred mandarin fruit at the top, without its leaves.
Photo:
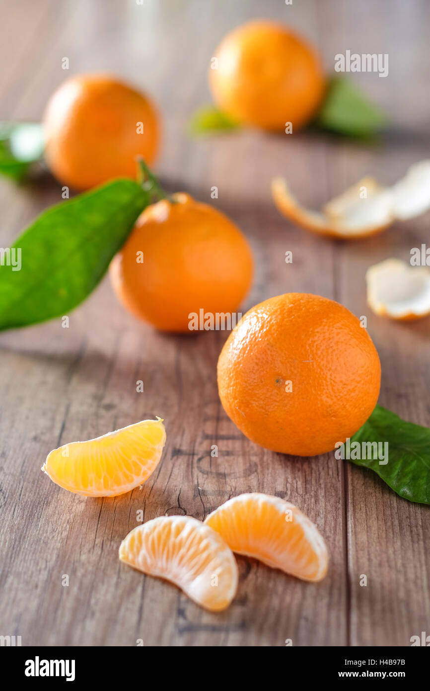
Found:
M 320 57 L 283 24 L 250 21 L 215 50 L 209 86 L 217 106 L 237 122 L 284 132 L 306 125 L 322 101 Z

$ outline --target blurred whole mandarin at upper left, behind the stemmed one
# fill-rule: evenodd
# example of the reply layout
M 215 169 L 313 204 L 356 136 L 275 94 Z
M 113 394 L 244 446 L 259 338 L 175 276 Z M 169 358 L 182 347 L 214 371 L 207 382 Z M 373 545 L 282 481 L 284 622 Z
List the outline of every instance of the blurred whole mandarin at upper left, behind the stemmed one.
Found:
M 153 103 L 108 75 L 77 75 L 63 82 L 50 97 L 43 127 L 48 167 L 75 189 L 112 178 L 135 179 L 135 157 L 151 163 L 158 151 Z

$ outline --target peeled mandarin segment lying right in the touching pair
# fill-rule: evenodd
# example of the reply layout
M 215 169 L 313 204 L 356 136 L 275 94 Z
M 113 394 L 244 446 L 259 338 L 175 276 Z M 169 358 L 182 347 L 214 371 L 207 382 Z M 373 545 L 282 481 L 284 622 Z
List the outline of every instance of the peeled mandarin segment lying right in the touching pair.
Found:
M 241 494 L 228 500 L 205 523 L 233 552 L 303 580 L 321 580 L 329 556 L 325 542 L 302 511 L 266 494 Z

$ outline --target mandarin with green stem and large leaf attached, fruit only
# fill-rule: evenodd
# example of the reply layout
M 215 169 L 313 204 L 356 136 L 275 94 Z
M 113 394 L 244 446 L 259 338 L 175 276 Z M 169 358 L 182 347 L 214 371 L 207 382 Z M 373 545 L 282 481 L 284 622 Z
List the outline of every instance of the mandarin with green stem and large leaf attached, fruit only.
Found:
M 137 261 L 140 253 L 143 261 Z M 110 264 L 121 303 L 166 331 L 186 332 L 190 314 L 231 313 L 251 286 L 253 256 L 220 211 L 177 193 L 146 207 Z

